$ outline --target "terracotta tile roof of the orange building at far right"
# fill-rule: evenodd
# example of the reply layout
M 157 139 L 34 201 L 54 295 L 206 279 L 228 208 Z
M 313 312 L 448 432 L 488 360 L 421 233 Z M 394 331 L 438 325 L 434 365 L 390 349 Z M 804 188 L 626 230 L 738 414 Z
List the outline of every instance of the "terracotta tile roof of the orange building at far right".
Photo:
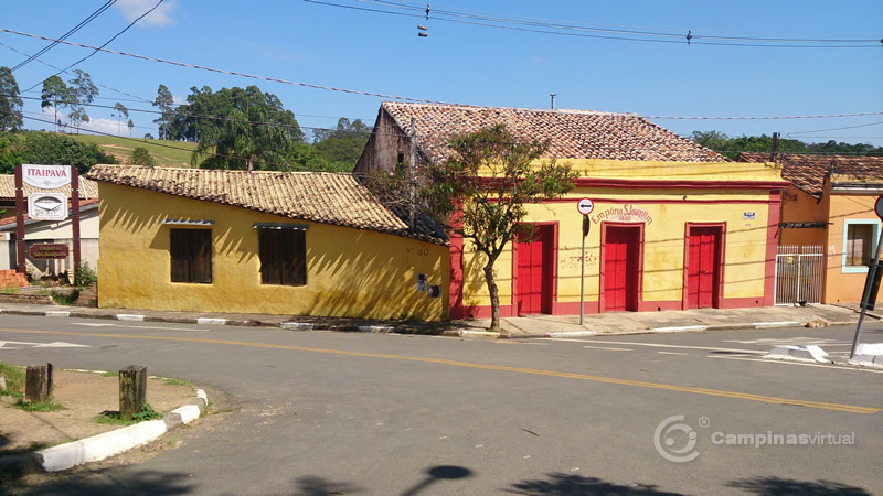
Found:
M 769 153 L 742 152 L 738 160 L 765 162 L 769 161 Z M 883 157 L 779 153 L 776 155 L 776 163 L 781 164 L 784 180 L 811 195 L 821 194 L 829 172 L 849 175 L 859 182 L 879 182 L 883 179 Z

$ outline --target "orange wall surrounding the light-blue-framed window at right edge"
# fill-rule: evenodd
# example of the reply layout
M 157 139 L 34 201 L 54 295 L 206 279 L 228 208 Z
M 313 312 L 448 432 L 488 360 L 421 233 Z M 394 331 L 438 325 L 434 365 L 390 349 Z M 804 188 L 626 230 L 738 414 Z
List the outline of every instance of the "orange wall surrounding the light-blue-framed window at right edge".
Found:
M 847 273 L 850 269 L 843 268 L 843 237 L 847 219 L 864 220 L 880 224 L 874 214 L 876 195 L 831 195 L 826 191 L 825 197 L 830 203 L 831 223 L 828 226 L 828 265 L 826 270 L 825 303 L 859 302 L 862 299 L 862 289 L 868 276 L 866 269 L 860 272 Z M 879 231 L 877 231 L 879 233 Z M 874 246 L 876 239 L 873 240 Z

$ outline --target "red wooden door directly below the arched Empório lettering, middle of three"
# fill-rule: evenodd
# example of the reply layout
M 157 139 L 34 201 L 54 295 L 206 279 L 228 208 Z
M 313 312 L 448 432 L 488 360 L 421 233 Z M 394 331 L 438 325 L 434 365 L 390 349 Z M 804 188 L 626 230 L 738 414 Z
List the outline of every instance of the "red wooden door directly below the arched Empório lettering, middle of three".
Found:
M 608 227 L 604 246 L 604 310 L 637 310 L 638 234 L 634 227 Z

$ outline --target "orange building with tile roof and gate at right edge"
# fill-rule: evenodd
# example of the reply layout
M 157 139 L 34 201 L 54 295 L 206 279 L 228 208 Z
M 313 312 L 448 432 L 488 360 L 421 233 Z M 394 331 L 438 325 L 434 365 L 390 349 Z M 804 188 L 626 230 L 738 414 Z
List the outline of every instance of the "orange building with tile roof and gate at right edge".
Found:
M 769 154 L 742 153 L 740 159 L 763 162 Z M 779 154 L 776 163 L 791 183 L 781 200 L 780 272 L 795 257 L 804 260 L 796 287 L 800 301 L 861 301 L 883 226 L 874 213 L 883 194 L 883 157 Z M 787 300 L 784 287 L 794 282 L 788 279 L 779 277 L 778 300 Z

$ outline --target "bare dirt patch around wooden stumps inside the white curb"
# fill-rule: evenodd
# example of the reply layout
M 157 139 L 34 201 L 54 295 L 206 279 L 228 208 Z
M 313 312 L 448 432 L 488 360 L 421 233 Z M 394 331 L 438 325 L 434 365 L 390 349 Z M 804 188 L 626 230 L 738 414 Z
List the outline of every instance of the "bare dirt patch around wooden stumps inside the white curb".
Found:
M 120 428 L 97 423 L 105 410 L 119 409 L 119 378 L 100 374 L 56 371 L 53 400 L 64 410 L 32 412 L 13 406 L 14 398 L 0 398 L 0 451 L 51 446 Z M 147 402 L 167 412 L 195 398 L 191 386 L 171 386 L 162 379 L 148 379 Z

